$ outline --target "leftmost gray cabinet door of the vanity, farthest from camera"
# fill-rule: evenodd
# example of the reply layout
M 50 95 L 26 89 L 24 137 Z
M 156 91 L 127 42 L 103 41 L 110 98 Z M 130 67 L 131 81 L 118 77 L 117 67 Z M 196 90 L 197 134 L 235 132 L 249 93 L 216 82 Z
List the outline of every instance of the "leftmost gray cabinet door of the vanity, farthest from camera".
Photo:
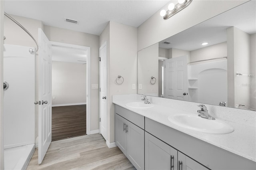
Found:
M 116 145 L 126 155 L 126 119 L 115 114 L 115 141 Z

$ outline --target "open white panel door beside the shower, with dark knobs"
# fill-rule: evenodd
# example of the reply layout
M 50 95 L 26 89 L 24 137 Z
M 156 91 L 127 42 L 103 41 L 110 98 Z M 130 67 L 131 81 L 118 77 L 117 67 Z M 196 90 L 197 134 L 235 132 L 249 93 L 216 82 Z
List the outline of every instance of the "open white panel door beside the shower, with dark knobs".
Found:
M 38 29 L 38 164 L 41 164 L 52 141 L 52 49 Z

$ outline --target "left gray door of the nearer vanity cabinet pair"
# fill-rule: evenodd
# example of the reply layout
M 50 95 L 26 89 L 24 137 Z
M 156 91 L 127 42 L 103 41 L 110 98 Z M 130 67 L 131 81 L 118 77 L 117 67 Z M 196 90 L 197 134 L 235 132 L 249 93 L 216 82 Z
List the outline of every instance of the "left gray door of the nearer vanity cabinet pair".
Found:
M 177 155 L 176 149 L 145 132 L 145 170 L 177 170 Z

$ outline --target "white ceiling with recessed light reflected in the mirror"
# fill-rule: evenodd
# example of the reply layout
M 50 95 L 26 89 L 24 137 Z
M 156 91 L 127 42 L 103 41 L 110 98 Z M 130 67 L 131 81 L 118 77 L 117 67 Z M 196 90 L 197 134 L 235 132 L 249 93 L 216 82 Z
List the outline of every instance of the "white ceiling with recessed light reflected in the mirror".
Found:
M 226 29 L 232 26 L 247 32 L 248 34 L 256 33 L 255 0 L 246 2 L 245 4 L 167 38 L 159 42 L 159 47 L 192 51 L 217 43 L 226 42 Z M 166 41 L 171 43 L 163 43 Z M 208 42 L 208 45 L 202 46 L 201 43 L 203 42 Z

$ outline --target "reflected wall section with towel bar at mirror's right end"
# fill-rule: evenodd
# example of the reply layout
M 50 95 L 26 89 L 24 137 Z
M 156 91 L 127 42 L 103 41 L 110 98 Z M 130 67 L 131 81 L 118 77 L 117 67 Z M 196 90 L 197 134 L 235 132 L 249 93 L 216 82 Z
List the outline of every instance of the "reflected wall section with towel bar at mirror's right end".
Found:
M 228 28 L 227 35 L 229 87 L 228 106 L 241 109 L 250 109 L 250 96 L 252 90 L 250 83 L 254 76 L 237 76 L 236 73 L 252 74 L 250 64 L 251 50 L 255 50 L 255 46 L 254 48 L 250 49 L 251 36 L 238 28 Z M 255 55 L 252 57 L 255 57 Z

